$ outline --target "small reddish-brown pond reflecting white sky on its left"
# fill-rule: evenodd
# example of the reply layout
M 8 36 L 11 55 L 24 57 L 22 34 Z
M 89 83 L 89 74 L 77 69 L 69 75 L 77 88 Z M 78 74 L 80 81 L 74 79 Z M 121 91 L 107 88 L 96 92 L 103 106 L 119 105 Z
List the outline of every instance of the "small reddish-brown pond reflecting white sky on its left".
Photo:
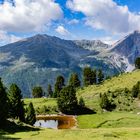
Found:
M 74 116 L 38 116 L 36 127 L 52 129 L 70 129 L 76 126 Z

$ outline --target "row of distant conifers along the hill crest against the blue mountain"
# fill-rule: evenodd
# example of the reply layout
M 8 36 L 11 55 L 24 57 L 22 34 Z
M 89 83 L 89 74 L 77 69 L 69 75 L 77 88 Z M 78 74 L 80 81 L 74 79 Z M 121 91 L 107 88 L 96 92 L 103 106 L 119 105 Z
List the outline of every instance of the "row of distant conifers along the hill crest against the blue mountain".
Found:
M 60 91 L 65 86 L 69 85 L 73 86 L 74 88 L 79 88 L 82 86 L 85 87 L 93 84 L 100 84 L 105 79 L 105 75 L 101 69 L 93 70 L 90 67 L 85 67 L 83 69 L 83 74 L 81 77 L 83 77 L 82 81 L 80 81 L 80 78 L 77 73 L 72 73 L 68 79 L 68 83 L 65 84 L 65 78 L 62 75 L 59 75 L 56 78 L 54 86 L 52 86 L 51 84 L 48 85 L 46 93 L 43 91 L 42 87 L 36 86 L 32 89 L 32 96 L 34 98 L 40 98 L 43 96 L 47 96 L 49 98 L 57 98 L 59 97 Z

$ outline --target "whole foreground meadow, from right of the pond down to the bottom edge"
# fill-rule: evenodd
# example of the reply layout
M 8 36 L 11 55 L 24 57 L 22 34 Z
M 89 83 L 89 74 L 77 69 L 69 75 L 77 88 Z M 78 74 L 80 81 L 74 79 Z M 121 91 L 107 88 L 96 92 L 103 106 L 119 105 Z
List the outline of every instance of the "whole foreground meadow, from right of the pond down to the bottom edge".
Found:
M 18 130 L 15 133 L 6 134 L 3 134 L 3 132 L 0 131 L 0 139 L 4 140 L 6 138 L 9 138 L 10 140 L 139 140 L 140 138 L 140 116 L 128 112 L 108 112 L 103 114 L 78 116 L 78 125 L 79 128 L 71 130 Z

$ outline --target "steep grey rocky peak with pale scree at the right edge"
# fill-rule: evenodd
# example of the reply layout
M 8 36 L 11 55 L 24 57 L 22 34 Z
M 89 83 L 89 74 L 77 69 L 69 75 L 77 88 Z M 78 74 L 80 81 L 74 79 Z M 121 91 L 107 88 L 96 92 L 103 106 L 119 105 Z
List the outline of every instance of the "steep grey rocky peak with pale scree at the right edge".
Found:
M 110 59 L 123 71 L 132 71 L 134 62 L 140 56 L 140 32 L 134 31 L 116 42 L 110 50 Z

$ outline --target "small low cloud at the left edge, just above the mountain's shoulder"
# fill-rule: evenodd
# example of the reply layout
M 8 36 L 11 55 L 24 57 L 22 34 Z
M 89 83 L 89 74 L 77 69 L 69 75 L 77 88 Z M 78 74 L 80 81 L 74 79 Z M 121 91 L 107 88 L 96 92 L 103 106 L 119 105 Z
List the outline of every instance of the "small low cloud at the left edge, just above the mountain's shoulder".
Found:
M 5 31 L 0 30 L 0 46 L 5 45 L 7 43 L 13 43 L 19 41 L 21 38 L 15 35 L 10 35 Z

